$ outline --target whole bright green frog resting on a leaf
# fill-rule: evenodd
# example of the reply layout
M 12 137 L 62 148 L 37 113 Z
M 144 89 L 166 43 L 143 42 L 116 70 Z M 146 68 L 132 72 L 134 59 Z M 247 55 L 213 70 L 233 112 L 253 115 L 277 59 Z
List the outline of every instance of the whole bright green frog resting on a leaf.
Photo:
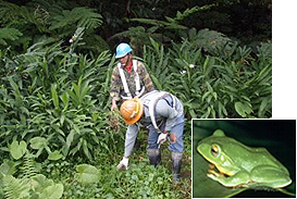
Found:
M 282 188 L 292 183 L 287 169 L 265 148 L 247 147 L 221 129 L 202 139 L 197 150 L 214 165 L 208 177 L 225 187 Z

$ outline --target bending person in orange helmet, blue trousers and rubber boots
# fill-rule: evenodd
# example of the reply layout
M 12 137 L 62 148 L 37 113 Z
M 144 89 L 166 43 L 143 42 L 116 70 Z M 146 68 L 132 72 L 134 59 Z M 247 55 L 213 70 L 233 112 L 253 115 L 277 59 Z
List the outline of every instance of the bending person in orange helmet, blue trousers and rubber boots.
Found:
M 183 158 L 184 107 L 173 95 L 153 90 L 141 98 L 126 100 L 120 108 L 121 115 L 128 124 L 125 137 L 125 152 L 117 165 L 119 170 L 128 169 L 128 157 L 139 130 L 139 125 L 149 129 L 147 152 L 149 162 L 157 166 L 161 162 L 160 146 L 169 140 L 173 165 L 173 182 L 181 175 Z

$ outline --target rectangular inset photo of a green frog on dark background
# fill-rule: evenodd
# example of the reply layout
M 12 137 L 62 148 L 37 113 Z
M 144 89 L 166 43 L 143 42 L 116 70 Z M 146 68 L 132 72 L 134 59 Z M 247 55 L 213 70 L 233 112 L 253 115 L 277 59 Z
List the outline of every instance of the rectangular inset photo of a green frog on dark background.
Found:
M 296 197 L 296 120 L 193 120 L 193 198 Z

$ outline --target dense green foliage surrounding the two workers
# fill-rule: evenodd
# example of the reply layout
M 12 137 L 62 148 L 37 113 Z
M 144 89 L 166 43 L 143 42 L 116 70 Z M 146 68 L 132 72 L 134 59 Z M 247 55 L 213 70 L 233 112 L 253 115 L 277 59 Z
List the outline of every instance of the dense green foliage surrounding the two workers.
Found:
M 123 40 L 184 102 L 180 186 L 166 150 L 147 164 L 145 132 L 129 171 L 115 170 L 125 126 L 110 127 L 109 84 Z M 0 197 L 189 198 L 190 120 L 271 117 L 271 0 L 0 0 Z

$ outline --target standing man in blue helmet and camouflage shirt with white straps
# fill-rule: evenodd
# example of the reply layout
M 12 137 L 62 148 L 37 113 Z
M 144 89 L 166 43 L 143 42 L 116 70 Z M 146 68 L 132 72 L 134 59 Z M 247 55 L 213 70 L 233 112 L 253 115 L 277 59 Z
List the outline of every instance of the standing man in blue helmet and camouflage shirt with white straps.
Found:
M 111 76 L 111 111 L 119 109 L 119 105 L 127 99 L 140 98 L 154 90 L 144 63 L 133 59 L 132 51 L 131 46 L 125 42 L 121 42 L 116 47 L 115 59 L 119 59 L 119 63 L 113 69 Z

